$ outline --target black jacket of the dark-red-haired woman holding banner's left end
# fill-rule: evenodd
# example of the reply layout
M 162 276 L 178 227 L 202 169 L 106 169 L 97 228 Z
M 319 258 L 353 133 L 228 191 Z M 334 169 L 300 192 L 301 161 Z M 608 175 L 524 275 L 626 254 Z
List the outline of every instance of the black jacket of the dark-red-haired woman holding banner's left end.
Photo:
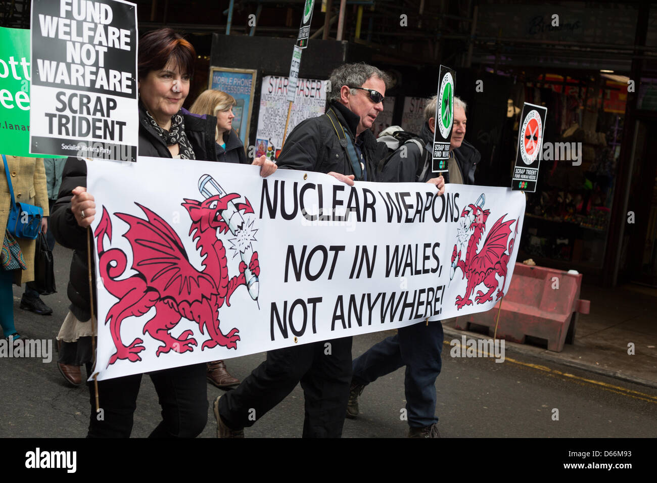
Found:
M 214 140 L 216 118 L 185 114 L 185 133 L 194 149 L 197 160 L 216 161 L 217 143 Z M 146 114 L 139 112 L 139 156 L 154 156 L 156 158 L 171 158 L 171 152 L 167 149 L 164 141 L 156 134 L 155 129 L 146 120 Z M 109 162 L 109 161 L 97 161 Z M 185 162 L 185 160 L 181 160 Z M 64 172 L 62 173 L 62 185 L 59 190 L 57 202 L 53 205 L 48 227 L 53 230 L 55 239 L 62 246 L 74 250 L 71 261 L 70 277 L 68 280 L 68 300 L 70 310 L 80 321 L 91 318 L 89 308 L 89 275 L 87 265 L 87 230 L 78 225 L 71 211 L 71 191 L 77 187 L 87 186 L 87 163 L 78 158 L 70 157 L 66 160 Z M 93 193 L 92 193 L 93 194 Z M 99 207 L 95 216 L 101 216 Z M 94 239 L 91 239 L 93 250 Z M 93 268 L 93 252 L 91 254 Z M 95 298 L 95 283 L 94 300 Z

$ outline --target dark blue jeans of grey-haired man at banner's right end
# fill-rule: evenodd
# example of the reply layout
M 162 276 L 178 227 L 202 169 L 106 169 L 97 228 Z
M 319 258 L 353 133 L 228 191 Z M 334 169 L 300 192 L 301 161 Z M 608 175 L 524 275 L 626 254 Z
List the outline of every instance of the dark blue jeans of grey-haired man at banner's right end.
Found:
M 440 374 L 443 325 L 440 321 L 402 327 L 353 361 L 353 382 L 369 384 L 406 366 L 404 388 L 409 426 L 438 423 L 436 378 Z

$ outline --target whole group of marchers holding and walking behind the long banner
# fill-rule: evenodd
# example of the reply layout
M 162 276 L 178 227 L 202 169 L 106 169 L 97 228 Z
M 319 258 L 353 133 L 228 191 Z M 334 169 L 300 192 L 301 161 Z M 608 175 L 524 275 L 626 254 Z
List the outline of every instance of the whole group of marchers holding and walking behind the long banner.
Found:
M 390 77 L 365 63 L 336 65 L 330 75 L 326 113 L 294 127 L 276 162 L 265 155 L 248 158 L 233 126 L 237 103 L 231 95 L 208 89 L 189 111 L 182 107 L 189 95 L 195 57 L 193 45 L 169 28 L 139 39 L 140 156 L 172 158 L 180 166 L 186 160 L 252 164 L 260 166 L 261 177 L 277 170 L 319 172 L 350 186 L 358 181 L 430 183 L 437 196 L 443 194 L 445 179 L 431 167 L 437 97 L 426 105 L 419 133 L 392 126 L 377 139 L 371 127 L 383 110 Z M 453 118 L 449 182 L 472 185 L 480 156 L 464 141 L 466 104 L 458 97 L 454 97 Z M 95 290 L 90 292 L 88 278 L 95 267 L 87 231 L 101 216 L 94 193 L 87 191 L 87 163 L 78 156 L 6 156 L 0 169 L 0 225 L 7 226 L 15 196 L 16 202 L 43 210 L 41 231 L 47 235 L 50 250 L 57 241 L 74 251 L 66 287 L 70 306 L 57 336 L 57 366 L 68 384 L 81 386 L 84 373 L 87 377 L 93 373 L 95 350 L 91 322 Z M 50 315 L 52 309 L 47 299 L 41 298 L 47 292 L 39 293 L 34 286 L 35 241 L 5 231 L 2 255 L 0 323 L 3 336 L 11 342 L 20 339 L 20 327 L 14 326 L 12 284 L 25 284 L 20 309 L 40 315 Z M 146 292 L 139 296 L 133 308 L 146 310 Z M 330 355 L 325 354 L 325 342 L 332 346 Z M 250 417 L 250 409 L 262 417 L 300 383 L 306 400 L 303 436 L 340 437 L 345 418 L 358 417 L 358 399 L 367 385 L 405 366 L 408 436 L 440 437 L 436 416 L 436 379 L 443 347 L 440 321 L 403 327 L 356 359 L 351 355 L 351 342 L 351 336 L 346 336 L 271 350 L 241 382 L 221 360 L 150 372 L 162 405 L 162 421 L 153 421 L 150 436 L 198 436 L 207 424 L 207 384 L 211 383 L 226 390 L 212 402 L 217 436 L 244 437 L 244 428 L 257 422 Z M 130 436 L 141 379 L 138 374 L 99 380 L 97 387 L 87 382 L 89 438 Z M 97 392 L 104 409 L 102 420 L 95 414 Z

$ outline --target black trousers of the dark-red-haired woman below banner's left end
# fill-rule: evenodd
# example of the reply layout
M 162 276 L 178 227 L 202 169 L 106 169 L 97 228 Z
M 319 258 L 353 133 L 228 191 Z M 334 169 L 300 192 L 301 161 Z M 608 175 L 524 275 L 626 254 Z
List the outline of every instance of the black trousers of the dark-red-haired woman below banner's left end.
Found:
M 206 363 L 164 369 L 149 375 L 162 405 L 162 421 L 149 438 L 196 438 L 208 422 Z M 93 382 L 87 383 L 91 400 L 87 438 L 130 436 L 141 376 L 98 381 L 102 421 L 99 421 L 100 413 L 96 413 Z

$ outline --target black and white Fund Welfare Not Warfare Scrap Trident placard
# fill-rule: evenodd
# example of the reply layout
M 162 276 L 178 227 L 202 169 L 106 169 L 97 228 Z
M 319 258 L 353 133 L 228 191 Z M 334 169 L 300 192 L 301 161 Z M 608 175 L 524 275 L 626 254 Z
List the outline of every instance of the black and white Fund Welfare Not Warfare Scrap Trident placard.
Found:
M 30 150 L 137 160 L 137 8 L 33 0 Z

